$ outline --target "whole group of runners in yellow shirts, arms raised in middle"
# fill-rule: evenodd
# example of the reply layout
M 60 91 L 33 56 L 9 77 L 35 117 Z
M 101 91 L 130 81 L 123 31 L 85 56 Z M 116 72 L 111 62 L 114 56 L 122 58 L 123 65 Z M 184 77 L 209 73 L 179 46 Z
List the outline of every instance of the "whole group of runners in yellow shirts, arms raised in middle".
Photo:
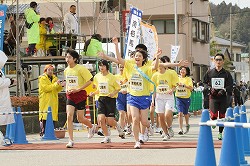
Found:
M 67 96 L 67 127 L 69 143 L 67 148 L 72 148 L 73 141 L 73 113 L 77 110 L 80 123 L 88 126 L 88 137 L 92 138 L 95 133 L 95 125 L 92 125 L 84 117 L 85 101 L 87 98 L 84 90 L 93 81 L 96 88 L 89 96 L 98 96 L 98 125 L 101 127 L 104 140 L 101 143 L 110 143 L 111 137 L 107 126 L 116 127 L 121 138 L 133 133 L 135 149 L 140 149 L 141 144 L 153 135 L 154 116 L 151 123 L 148 120 L 148 112 L 154 111 L 159 118 L 162 128 L 163 141 L 174 136 L 172 129 L 173 111 L 178 110 L 179 132 L 182 135 L 188 133 L 190 96 L 193 82 L 187 61 L 170 63 L 167 56 L 162 56 L 162 50 L 158 49 L 154 60 L 148 60 L 147 47 L 143 44 L 136 46 L 131 53 L 130 59 L 122 58 L 118 49 L 118 39 L 113 38 L 117 58 L 112 58 L 99 52 L 102 59 L 98 62 L 99 73 L 92 80 L 91 73 L 82 65 L 78 65 L 79 55 L 76 51 L 69 50 L 66 55 L 68 67 L 65 69 L 66 96 Z M 120 73 L 113 75 L 109 72 L 109 62 L 119 64 Z M 179 66 L 178 74 L 170 67 Z M 174 97 L 175 94 L 175 97 Z M 115 111 L 119 111 L 119 121 L 115 120 Z M 183 131 L 183 114 L 186 121 L 186 130 Z M 151 114 L 153 115 L 153 114 Z

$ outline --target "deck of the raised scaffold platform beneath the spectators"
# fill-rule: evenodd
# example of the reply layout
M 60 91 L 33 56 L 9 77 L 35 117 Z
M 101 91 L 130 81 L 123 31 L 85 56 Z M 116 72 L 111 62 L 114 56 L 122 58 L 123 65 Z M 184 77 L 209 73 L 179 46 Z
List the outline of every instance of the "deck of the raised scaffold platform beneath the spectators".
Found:
M 21 63 L 27 65 L 43 65 L 43 64 L 66 64 L 65 56 L 44 56 L 44 57 L 21 57 Z M 16 56 L 8 57 L 6 64 L 15 64 Z M 95 63 L 98 57 L 82 56 L 83 63 Z

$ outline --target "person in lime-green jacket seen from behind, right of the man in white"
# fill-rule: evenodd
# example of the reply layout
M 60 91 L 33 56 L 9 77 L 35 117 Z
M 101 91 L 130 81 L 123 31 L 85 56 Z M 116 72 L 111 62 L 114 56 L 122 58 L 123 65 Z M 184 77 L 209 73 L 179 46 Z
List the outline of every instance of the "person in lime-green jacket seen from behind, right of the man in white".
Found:
M 102 49 L 102 36 L 100 34 L 93 34 L 91 39 L 87 40 L 84 45 L 84 53 L 87 56 L 97 56 Z

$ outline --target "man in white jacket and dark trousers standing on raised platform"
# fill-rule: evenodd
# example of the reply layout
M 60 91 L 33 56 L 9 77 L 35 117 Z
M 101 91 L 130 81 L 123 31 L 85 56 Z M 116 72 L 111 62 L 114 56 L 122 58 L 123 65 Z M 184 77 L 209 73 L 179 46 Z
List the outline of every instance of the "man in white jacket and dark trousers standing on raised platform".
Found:
M 65 27 L 65 33 L 66 34 L 78 34 L 78 18 L 76 16 L 76 6 L 71 5 L 69 8 L 69 12 L 65 14 L 64 19 L 64 27 Z M 76 47 L 76 39 L 77 36 L 72 36 L 67 38 L 67 47 L 71 47 L 72 49 L 75 49 Z

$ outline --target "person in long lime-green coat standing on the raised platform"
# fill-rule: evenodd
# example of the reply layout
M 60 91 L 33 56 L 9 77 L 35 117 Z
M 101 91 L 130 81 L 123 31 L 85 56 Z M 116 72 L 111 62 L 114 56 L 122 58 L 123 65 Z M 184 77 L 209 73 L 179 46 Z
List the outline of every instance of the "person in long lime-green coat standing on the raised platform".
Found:
M 40 15 L 36 12 L 37 3 L 31 2 L 30 8 L 26 9 L 24 12 L 26 22 L 29 24 L 29 28 L 27 29 L 27 37 L 28 37 L 28 56 L 33 56 L 35 53 L 35 46 L 39 43 L 40 33 L 39 33 L 39 24 Z M 26 25 L 27 26 L 27 25 Z

